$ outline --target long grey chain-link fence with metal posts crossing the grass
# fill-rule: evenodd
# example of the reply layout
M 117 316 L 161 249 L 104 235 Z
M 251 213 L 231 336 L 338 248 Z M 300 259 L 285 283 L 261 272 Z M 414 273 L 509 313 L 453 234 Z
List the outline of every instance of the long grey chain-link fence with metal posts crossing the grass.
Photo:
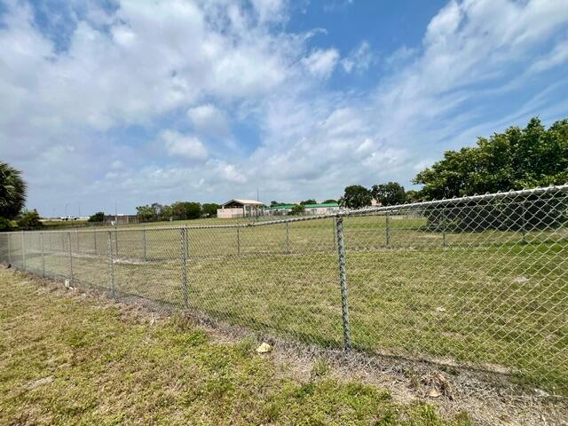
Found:
M 568 394 L 568 185 L 246 225 L 0 234 L 0 261 Z

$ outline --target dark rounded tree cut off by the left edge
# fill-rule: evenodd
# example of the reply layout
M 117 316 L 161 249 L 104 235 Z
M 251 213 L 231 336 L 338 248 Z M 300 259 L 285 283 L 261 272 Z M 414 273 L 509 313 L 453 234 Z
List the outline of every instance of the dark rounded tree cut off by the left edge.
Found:
M 0 217 L 13 219 L 26 203 L 27 185 L 20 170 L 7 162 L 0 162 Z

